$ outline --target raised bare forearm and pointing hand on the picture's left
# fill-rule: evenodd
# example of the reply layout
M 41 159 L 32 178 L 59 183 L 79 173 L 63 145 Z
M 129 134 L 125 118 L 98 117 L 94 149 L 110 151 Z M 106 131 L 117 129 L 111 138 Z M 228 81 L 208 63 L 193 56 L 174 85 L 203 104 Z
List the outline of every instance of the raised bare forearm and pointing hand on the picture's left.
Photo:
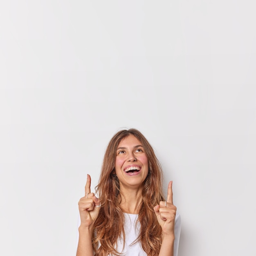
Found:
M 93 256 L 92 232 L 95 220 L 101 206 L 99 198 L 91 193 L 91 177 L 87 175 L 85 196 L 79 200 L 81 225 L 79 226 L 79 241 L 76 256 Z

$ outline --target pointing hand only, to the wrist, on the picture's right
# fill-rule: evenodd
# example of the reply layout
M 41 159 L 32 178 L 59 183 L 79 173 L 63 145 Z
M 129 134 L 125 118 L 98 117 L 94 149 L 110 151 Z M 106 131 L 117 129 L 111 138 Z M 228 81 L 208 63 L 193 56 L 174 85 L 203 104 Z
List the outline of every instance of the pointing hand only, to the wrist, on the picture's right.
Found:
M 154 207 L 155 215 L 157 220 L 162 227 L 163 235 L 174 236 L 175 216 L 176 207 L 173 205 L 173 182 L 170 181 L 168 184 L 168 195 L 167 201 L 160 201 Z

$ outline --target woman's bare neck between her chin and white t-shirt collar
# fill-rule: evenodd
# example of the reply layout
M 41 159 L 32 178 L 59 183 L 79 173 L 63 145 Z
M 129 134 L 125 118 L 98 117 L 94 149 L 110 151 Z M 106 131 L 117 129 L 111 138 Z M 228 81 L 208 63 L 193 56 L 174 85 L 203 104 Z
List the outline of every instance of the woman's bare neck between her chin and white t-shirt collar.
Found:
M 122 189 L 120 207 L 125 213 L 138 214 L 142 201 L 142 189 Z

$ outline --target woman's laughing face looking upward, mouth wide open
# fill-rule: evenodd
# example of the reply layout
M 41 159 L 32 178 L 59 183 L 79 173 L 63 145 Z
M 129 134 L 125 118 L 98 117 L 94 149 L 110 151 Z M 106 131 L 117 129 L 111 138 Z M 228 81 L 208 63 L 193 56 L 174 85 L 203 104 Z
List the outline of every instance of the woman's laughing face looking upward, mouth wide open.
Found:
M 148 158 L 141 142 L 129 135 L 117 146 L 115 171 L 122 187 L 139 188 L 148 175 Z

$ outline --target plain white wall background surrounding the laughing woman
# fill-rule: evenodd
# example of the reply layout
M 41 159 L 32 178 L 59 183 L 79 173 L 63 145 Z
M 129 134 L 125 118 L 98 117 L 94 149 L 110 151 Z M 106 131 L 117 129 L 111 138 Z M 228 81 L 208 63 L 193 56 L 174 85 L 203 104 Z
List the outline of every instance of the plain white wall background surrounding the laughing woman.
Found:
M 253 3 L 2 1 L 0 255 L 75 255 L 86 174 L 125 127 L 173 180 L 179 256 L 255 256 Z

